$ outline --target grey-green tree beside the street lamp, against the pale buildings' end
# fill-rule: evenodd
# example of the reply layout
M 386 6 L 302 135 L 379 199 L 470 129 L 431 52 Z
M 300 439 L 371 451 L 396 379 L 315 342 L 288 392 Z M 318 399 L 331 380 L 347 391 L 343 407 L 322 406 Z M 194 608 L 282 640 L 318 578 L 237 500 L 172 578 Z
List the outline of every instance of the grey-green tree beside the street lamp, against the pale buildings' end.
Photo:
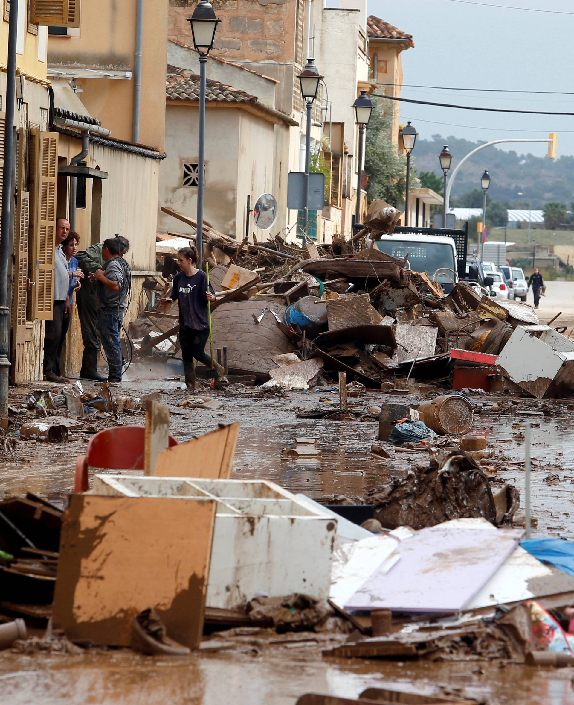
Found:
M 406 159 L 391 141 L 392 115 L 385 115 L 380 99 L 373 99 L 373 106 L 365 145 L 367 197 L 370 201 L 380 198 L 397 207 L 404 201 Z

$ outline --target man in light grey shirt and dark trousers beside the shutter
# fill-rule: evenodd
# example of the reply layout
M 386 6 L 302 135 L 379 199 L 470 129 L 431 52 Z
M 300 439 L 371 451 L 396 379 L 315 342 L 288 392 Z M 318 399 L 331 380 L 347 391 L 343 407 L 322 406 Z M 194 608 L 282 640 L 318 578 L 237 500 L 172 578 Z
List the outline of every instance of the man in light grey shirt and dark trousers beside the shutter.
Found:
M 56 373 L 56 351 L 62 335 L 63 319 L 70 316 L 72 308 L 68 297 L 70 274 L 61 243 L 70 234 L 70 223 L 65 218 L 56 219 L 56 252 L 54 253 L 54 308 L 51 321 L 44 329 L 44 379 L 58 384 L 70 380 Z

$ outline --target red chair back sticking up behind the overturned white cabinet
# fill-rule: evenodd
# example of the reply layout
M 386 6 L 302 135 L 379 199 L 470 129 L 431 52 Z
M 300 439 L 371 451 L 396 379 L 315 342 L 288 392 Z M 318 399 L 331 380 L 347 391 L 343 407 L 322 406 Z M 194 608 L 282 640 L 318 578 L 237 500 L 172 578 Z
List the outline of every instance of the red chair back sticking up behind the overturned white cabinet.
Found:
M 89 489 L 89 467 L 144 470 L 145 436 L 144 426 L 118 426 L 92 436 L 86 454 L 77 456 L 74 491 L 85 492 Z M 173 436 L 169 436 L 169 445 L 177 446 Z

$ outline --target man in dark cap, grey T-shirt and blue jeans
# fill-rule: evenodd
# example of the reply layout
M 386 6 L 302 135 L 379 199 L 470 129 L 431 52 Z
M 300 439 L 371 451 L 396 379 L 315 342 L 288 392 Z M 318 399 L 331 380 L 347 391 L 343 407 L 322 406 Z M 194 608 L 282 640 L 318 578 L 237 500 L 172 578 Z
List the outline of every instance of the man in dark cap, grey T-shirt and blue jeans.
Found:
M 98 333 L 108 360 L 108 383 L 115 387 L 122 384 L 120 330 L 132 290 L 132 270 L 121 257 L 122 250 L 119 238 L 104 240 L 101 247 L 104 266 L 89 274 L 89 281 L 97 285 Z

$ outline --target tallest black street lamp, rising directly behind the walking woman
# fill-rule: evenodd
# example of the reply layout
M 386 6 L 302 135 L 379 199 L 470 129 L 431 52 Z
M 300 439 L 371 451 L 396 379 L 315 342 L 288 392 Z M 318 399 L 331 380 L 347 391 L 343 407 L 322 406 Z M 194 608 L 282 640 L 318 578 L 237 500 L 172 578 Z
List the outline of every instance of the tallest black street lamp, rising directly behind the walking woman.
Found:
M 199 269 L 203 264 L 204 249 L 204 171 L 205 171 L 205 104 L 206 104 L 206 63 L 207 55 L 213 48 L 216 29 L 221 20 L 208 0 L 201 0 L 187 20 L 192 25 L 194 47 L 199 54 L 199 147 L 197 149 L 197 238 Z

